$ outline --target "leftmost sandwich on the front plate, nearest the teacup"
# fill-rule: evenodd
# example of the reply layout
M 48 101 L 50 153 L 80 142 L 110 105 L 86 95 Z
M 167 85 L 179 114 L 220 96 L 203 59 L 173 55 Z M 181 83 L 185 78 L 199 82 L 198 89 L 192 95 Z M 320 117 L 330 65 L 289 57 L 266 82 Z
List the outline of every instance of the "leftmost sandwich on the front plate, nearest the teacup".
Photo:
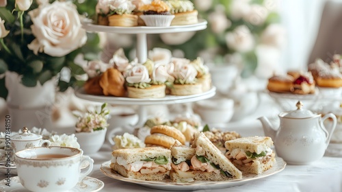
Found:
M 126 178 L 163 180 L 170 173 L 170 149 L 161 147 L 116 149 L 111 154 L 111 169 Z

